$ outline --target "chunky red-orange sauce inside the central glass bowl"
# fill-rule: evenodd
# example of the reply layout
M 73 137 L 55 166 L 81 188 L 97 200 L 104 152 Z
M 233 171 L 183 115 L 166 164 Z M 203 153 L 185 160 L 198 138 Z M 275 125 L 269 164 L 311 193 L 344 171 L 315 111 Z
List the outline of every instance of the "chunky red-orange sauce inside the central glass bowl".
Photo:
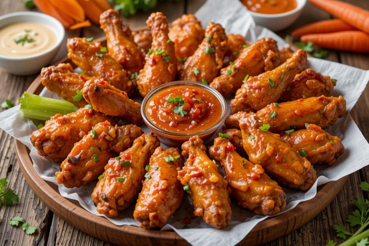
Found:
M 170 97 L 180 97 L 171 102 Z M 177 97 L 177 98 L 179 98 Z M 182 104 L 182 105 L 181 105 Z M 181 110 L 183 116 L 177 110 Z M 222 107 L 212 93 L 194 86 L 176 86 L 156 94 L 148 103 L 146 112 L 150 121 L 165 131 L 194 133 L 215 125 Z

